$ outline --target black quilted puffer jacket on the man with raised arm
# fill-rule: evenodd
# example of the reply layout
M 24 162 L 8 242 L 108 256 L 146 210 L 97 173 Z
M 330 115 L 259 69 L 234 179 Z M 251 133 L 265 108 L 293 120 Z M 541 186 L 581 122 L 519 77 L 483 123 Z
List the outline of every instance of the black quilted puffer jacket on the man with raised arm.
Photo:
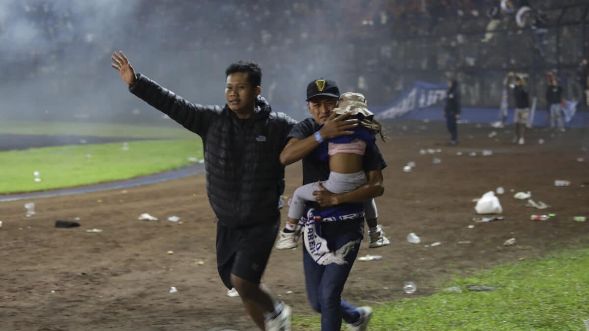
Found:
M 141 74 L 129 90 L 200 135 L 207 196 L 221 224 L 236 228 L 277 219 L 284 192 L 279 155 L 296 121 L 258 97 L 253 117 L 240 123 L 227 105 L 193 104 Z

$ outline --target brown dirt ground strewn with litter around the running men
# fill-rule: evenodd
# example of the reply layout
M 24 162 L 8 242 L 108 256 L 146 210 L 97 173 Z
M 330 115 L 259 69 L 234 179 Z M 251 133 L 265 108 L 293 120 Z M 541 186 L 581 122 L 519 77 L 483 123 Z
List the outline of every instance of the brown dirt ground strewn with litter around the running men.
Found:
M 534 129 L 522 146 L 511 144 L 512 128 L 462 124 L 459 130 L 461 144 L 449 147 L 442 123 L 388 124 L 391 140 L 379 143 L 389 164 L 385 194 L 376 203 L 391 245 L 368 249 L 363 242 L 359 256 L 382 259 L 356 261 L 343 293 L 350 302 L 378 306 L 408 297 L 402 291 L 406 281 L 418 287 L 412 296 L 426 296 L 456 274 L 530 259 L 568 244 L 588 245 L 589 222 L 573 221 L 573 216 L 589 216 L 586 129 Z M 497 136 L 489 138 L 492 131 Z M 538 144 L 540 138 L 544 144 Z M 419 153 L 428 148 L 441 152 Z M 494 154 L 482 156 L 485 149 Z M 459 151 L 463 155 L 456 155 Z M 477 156 L 469 156 L 472 151 Z M 441 164 L 433 164 L 434 157 Z M 409 161 L 416 167 L 405 173 Z M 301 172 L 300 163 L 287 167 L 285 196 L 301 183 Z M 557 179 L 572 184 L 555 187 Z M 474 223 L 472 199 L 498 186 L 505 188 L 499 196 L 505 219 Z M 511 190 L 531 191 L 535 201 L 552 207 L 525 207 Z M 0 203 L 0 329 L 254 330 L 239 297 L 227 296 L 217 276 L 215 224 L 204 176 L 42 198 L 34 201 L 37 214 L 31 217 L 25 217 L 26 202 Z M 557 217 L 530 221 L 530 214 L 548 212 Z M 138 220 L 141 213 L 159 220 Z M 181 224 L 167 221 L 173 215 L 181 217 Z M 76 217 L 81 227 L 54 227 L 56 220 Z M 86 231 L 94 228 L 103 231 Z M 422 243 L 408 243 L 410 232 Z M 511 237 L 517 244 L 503 246 Z M 436 241 L 441 244 L 428 246 Z M 301 254 L 300 248 L 275 250 L 263 279 L 299 315 L 312 313 Z M 178 292 L 169 293 L 172 286 Z

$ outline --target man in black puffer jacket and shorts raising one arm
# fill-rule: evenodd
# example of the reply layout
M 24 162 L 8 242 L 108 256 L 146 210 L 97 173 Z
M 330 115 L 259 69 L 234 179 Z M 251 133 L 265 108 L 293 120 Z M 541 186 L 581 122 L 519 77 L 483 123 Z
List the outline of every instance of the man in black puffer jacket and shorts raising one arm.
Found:
M 262 330 L 289 330 L 290 307 L 260 286 L 280 226 L 284 166 L 279 155 L 296 123 L 272 112 L 260 97 L 262 72 L 253 62 L 226 70 L 226 105 L 193 104 L 141 74 L 123 52 L 112 67 L 137 95 L 200 135 L 204 146 L 207 195 L 217 216 L 217 269 L 235 287 Z

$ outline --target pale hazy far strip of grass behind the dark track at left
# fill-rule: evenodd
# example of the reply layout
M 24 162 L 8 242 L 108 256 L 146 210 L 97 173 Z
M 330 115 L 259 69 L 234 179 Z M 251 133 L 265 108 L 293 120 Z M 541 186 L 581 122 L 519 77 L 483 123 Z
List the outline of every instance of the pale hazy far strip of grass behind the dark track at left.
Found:
M 180 125 L 161 127 L 155 125 L 75 122 L 0 121 L 0 133 L 163 139 L 193 139 L 195 137 L 194 133 Z

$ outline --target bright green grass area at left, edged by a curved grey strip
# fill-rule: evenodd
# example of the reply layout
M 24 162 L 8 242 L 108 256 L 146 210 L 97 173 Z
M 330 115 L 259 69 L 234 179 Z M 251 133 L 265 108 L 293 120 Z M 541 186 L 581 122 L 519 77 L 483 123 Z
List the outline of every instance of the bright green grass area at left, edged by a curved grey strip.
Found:
M 194 138 L 134 141 L 126 151 L 121 147 L 123 143 L 88 144 L 0 153 L 0 194 L 146 176 L 186 166 L 191 163 L 188 157 L 203 158 L 202 143 Z M 41 181 L 34 180 L 35 171 L 41 173 Z

